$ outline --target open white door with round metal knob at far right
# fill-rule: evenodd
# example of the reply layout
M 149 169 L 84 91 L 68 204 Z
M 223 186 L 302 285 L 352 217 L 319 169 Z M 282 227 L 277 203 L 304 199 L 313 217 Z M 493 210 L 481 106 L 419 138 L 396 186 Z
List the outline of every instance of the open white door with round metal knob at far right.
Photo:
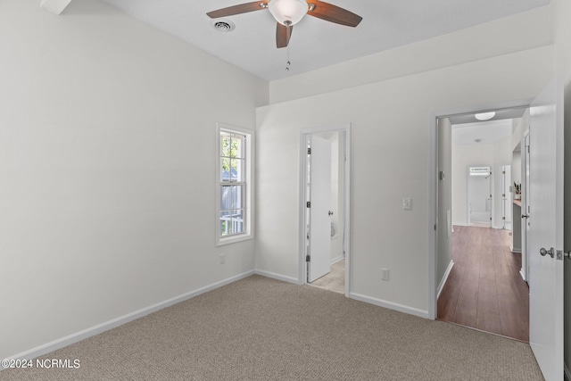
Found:
M 529 165 L 529 342 L 543 377 L 559 381 L 563 379 L 563 90 L 559 81 L 552 81 L 531 104 Z

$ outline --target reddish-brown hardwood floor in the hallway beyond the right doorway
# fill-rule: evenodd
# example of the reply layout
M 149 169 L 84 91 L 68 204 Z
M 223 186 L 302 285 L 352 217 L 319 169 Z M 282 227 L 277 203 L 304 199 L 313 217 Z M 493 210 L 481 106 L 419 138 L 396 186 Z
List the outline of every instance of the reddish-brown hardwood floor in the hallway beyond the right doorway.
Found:
M 454 227 L 454 267 L 438 298 L 437 319 L 529 341 L 529 287 L 510 241 L 507 230 Z

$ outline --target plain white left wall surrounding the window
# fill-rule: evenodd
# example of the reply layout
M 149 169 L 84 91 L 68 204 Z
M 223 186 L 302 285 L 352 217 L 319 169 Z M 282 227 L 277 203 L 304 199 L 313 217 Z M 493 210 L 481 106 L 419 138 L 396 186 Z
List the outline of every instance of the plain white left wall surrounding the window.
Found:
M 0 51 L 0 358 L 252 271 L 214 247 L 216 122 L 266 82 L 95 0 L 1 2 Z

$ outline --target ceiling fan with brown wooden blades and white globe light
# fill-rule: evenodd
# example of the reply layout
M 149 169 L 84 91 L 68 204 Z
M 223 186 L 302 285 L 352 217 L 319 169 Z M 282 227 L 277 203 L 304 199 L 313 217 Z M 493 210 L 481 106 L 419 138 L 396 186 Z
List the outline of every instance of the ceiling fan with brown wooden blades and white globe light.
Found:
M 277 21 L 276 46 L 278 48 L 289 44 L 294 25 L 301 21 L 305 14 L 353 28 L 359 25 L 363 19 L 353 12 L 319 0 L 259 0 L 252 3 L 228 6 L 227 8 L 206 14 L 212 19 L 218 19 L 219 17 L 264 9 L 269 10 Z

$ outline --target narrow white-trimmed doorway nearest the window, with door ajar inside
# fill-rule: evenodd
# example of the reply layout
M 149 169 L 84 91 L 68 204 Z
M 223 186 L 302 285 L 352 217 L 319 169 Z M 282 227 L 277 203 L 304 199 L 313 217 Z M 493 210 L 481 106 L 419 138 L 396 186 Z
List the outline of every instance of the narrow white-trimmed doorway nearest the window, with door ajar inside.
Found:
M 350 289 L 349 124 L 302 129 L 300 279 L 340 294 Z

